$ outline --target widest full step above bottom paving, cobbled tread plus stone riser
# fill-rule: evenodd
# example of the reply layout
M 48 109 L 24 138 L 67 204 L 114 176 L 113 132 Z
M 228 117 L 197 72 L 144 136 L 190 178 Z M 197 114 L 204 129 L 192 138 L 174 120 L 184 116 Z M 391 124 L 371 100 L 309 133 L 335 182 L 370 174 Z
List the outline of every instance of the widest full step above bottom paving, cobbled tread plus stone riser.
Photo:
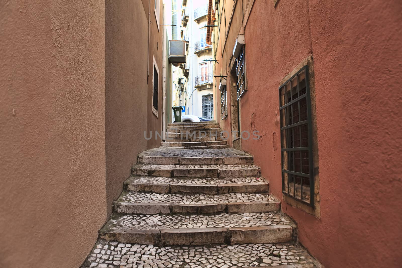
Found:
M 286 243 L 296 225 L 281 213 L 125 215 L 114 213 L 99 237 L 146 245 Z

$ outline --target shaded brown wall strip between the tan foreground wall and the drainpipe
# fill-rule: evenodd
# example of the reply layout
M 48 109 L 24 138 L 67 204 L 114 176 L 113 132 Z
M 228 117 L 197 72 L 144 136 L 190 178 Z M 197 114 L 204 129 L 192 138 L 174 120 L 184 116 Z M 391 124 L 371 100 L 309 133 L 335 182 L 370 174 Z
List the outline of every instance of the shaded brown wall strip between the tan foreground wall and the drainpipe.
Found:
M 107 0 L 105 20 L 106 189 L 110 214 L 137 154 L 147 148 L 148 21 L 141 0 Z

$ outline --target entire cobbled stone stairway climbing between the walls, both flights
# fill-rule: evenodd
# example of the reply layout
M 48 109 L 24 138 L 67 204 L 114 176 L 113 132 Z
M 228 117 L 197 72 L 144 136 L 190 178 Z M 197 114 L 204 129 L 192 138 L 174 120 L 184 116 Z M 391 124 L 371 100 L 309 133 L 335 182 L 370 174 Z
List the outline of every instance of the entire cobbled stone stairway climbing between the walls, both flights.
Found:
M 316 267 L 252 155 L 215 131 L 172 123 L 165 146 L 138 155 L 83 267 Z

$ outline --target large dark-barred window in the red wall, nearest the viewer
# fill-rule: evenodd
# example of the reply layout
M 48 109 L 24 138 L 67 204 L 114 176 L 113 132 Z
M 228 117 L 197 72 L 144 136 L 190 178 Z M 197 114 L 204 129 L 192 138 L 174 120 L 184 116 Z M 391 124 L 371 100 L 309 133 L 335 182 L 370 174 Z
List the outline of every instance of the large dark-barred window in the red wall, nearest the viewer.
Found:
M 279 87 L 282 192 L 313 206 L 312 123 L 308 65 Z

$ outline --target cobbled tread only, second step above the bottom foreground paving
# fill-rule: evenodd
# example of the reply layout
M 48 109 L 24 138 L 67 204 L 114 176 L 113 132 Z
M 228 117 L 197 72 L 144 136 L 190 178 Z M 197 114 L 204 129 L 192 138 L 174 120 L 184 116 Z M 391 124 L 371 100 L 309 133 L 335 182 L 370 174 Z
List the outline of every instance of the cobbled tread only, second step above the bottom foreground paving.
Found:
M 127 203 L 169 203 L 169 204 L 211 204 L 239 202 L 277 201 L 271 194 L 157 194 L 152 192 L 123 191 L 117 202 Z

